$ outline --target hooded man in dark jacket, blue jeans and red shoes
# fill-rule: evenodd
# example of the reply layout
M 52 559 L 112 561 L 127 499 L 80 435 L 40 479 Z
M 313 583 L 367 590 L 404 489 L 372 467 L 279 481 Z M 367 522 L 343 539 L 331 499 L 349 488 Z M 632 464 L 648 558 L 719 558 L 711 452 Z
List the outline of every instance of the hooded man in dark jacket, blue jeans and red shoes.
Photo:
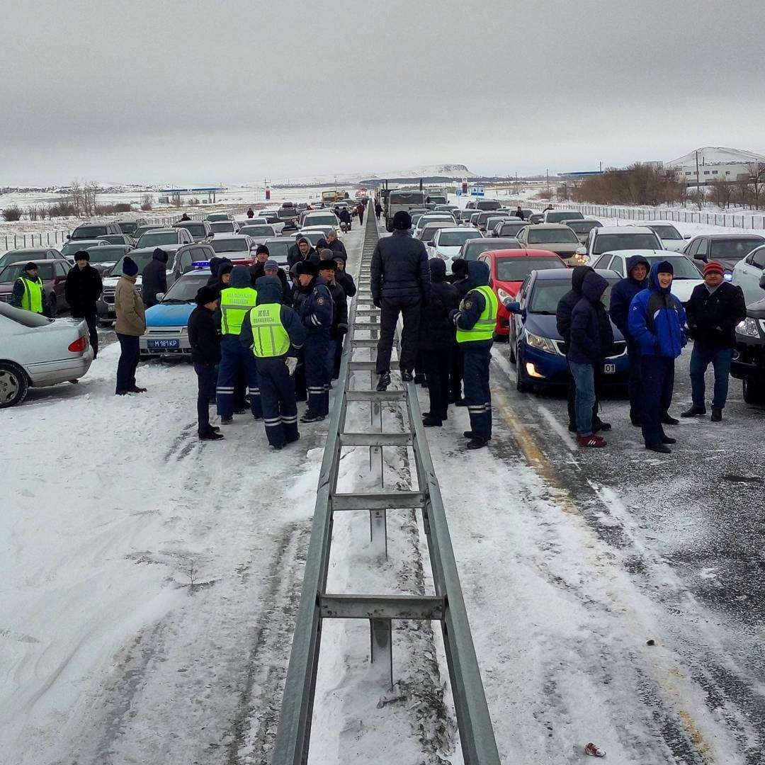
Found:
M 614 345 L 614 331 L 601 301 L 608 282 L 594 271 L 584 274 L 581 298 L 571 311 L 568 368 L 576 387 L 576 440 L 583 447 L 604 447 L 606 442 L 593 433 L 595 369 L 602 366 Z

